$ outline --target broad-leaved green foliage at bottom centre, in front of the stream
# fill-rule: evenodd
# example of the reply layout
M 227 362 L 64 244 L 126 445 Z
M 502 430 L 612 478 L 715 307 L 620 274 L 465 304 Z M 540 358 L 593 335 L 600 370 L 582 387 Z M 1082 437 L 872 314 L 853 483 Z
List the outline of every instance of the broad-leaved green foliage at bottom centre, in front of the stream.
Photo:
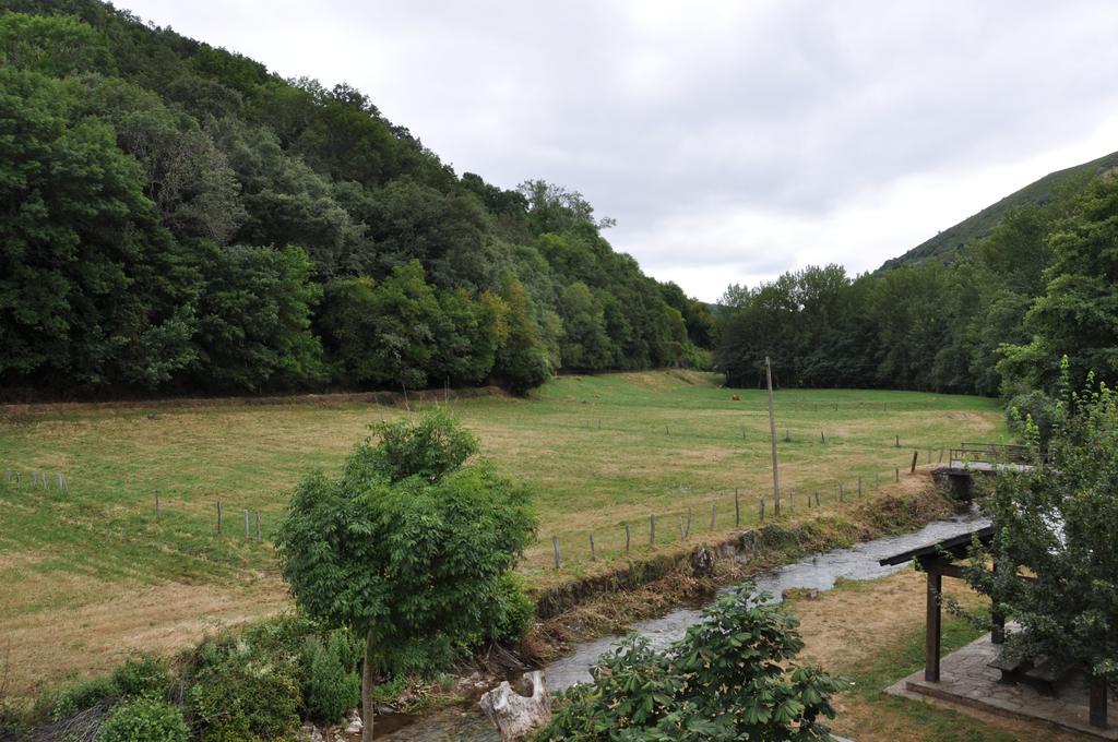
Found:
M 841 683 L 793 664 L 796 619 L 743 587 L 664 651 L 629 637 L 557 701 L 538 740 L 826 740 Z

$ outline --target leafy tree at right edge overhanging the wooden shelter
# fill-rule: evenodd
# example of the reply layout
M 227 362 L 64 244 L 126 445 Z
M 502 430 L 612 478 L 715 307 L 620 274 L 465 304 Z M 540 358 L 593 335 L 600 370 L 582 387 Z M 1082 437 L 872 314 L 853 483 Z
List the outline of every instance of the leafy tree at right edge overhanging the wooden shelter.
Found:
M 1013 653 L 1118 686 L 1118 396 L 1089 379 L 1061 396 L 1046 457 L 1035 427 L 1029 438 L 1035 467 L 998 475 L 983 501 L 994 539 L 976 549 L 967 579 L 1020 625 Z

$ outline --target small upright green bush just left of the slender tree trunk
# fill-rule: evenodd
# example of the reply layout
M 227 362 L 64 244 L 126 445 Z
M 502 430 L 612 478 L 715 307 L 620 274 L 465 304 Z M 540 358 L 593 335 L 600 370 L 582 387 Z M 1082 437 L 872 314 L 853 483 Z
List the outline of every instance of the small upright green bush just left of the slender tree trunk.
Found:
M 358 673 L 361 647 L 352 634 L 331 631 L 323 641 L 306 637 L 303 645 L 303 704 L 318 722 L 338 723 L 361 701 Z

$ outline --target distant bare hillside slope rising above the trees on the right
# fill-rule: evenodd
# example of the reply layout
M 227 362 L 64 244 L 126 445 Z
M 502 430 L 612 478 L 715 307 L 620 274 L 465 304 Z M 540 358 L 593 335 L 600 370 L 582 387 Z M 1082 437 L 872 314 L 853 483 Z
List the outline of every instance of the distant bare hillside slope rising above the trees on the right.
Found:
M 881 270 L 902 265 L 919 265 L 929 258 L 951 263 L 967 247 L 988 235 L 1002 221 L 1002 217 L 1007 211 L 1030 203 L 1044 206 L 1058 199 L 1073 197 L 1082 191 L 1091 178 L 1116 168 L 1118 168 L 1118 152 L 1111 152 L 1098 160 L 1049 173 L 1020 191 L 1006 196 L 993 206 L 986 207 L 973 217 L 968 217 L 931 239 L 917 245 L 904 255 L 885 260 Z

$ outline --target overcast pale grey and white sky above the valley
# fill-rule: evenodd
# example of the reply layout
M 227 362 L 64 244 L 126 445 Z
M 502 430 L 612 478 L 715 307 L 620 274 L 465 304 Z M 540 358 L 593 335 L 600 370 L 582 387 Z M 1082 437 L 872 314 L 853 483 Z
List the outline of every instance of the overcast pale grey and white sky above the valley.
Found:
M 1108 1 L 117 4 L 348 82 L 459 173 L 581 191 L 615 248 L 703 299 L 877 268 L 1118 150 Z

